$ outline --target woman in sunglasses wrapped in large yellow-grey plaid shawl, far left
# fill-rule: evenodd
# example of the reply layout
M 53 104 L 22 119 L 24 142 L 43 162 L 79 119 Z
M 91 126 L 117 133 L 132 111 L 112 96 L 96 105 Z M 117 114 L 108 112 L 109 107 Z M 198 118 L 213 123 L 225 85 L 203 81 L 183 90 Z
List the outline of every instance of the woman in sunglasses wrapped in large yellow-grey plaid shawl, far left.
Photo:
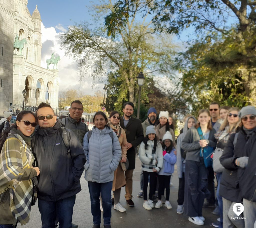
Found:
M 39 175 L 32 167 L 34 156 L 31 137 L 36 117 L 30 111 L 18 114 L 15 125 L 0 140 L 0 228 L 13 228 L 29 221 L 33 185 L 31 178 Z

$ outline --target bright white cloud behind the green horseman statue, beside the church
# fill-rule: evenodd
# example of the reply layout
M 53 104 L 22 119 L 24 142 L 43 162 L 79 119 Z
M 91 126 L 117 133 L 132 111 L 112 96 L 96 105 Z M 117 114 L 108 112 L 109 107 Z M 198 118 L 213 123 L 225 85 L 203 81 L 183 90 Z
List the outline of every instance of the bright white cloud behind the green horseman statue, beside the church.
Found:
M 61 26 L 58 24 L 59 30 Z M 79 85 L 77 63 L 70 57 L 65 56 L 65 50 L 60 49 L 60 36 L 63 32 L 57 32 L 54 27 L 45 28 L 41 24 L 42 30 L 42 49 L 48 51 L 43 53 L 41 57 L 41 67 L 47 68 L 46 59 L 51 58 L 52 52 L 55 52 L 56 56 L 60 56 L 57 68 L 59 70 L 59 91 L 69 89 L 81 89 L 84 94 L 93 95 L 95 91 L 103 91 L 104 84 L 99 83 L 93 86 L 92 89 L 92 78 L 89 77 L 89 73 L 86 74 L 86 79 L 82 86 Z M 47 42 L 46 42 L 47 41 Z M 52 41 L 52 42 L 49 42 Z M 52 43 L 54 45 L 52 45 Z M 49 68 L 52 68 L 53 64 L 50 64 Z

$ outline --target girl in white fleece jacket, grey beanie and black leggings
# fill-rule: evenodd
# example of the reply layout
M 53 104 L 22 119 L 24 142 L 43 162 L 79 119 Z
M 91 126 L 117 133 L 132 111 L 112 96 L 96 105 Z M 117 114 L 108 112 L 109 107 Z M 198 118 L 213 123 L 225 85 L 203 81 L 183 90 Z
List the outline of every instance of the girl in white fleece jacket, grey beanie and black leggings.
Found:
M 139 155 L 141 160 L 141 170 L 144 176 L 144 203 L 143 207 L 146 210 L 152 210 L 154 207 L 152 196 L 156 188 L 157 172 L 163 166 L 163 152 L 162 146 L 156 139 L 156 132 L 154 126 L 146 128 L 146 137 L 140 145 Z M 147 200 L 147 185 L 148 176 L 150 177 L 149 185 L 149 200 Z

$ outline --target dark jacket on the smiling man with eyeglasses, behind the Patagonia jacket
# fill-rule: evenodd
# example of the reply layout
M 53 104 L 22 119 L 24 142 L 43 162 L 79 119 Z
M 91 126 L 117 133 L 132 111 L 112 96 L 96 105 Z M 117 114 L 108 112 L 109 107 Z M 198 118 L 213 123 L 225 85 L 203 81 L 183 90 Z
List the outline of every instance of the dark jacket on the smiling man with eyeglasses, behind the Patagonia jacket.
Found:
M 60 119 L 59 121 L 62 123 L 62 127 L 66 127 L 67 129 L 74 132 L 77 135 L 80 143 L 82 144 L 83 137 L 86 132 L 88 132 L 88 127 L 82 122 L 81 118 L 77 122 L 77 120 L 72 119 L 69 114 L 68 117 L 66 117 L 65 119 Z

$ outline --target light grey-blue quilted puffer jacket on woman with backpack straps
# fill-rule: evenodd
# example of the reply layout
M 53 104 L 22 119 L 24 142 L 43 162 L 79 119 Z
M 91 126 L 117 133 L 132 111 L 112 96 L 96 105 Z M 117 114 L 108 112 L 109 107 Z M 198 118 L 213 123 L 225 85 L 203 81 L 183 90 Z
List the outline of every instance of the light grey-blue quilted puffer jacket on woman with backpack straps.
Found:
M 88 143 L 88 132 L 83 138 L 83 150 L 86 156 L 85 176 L 87 181 L 106 183 L 114 179 L 114 171 L 121 159 L 121 146 L 116 134 L 113 142 L 110 132 L 113 130 L 105 127 L 103 130 L 92 128 L 92 135 Z

